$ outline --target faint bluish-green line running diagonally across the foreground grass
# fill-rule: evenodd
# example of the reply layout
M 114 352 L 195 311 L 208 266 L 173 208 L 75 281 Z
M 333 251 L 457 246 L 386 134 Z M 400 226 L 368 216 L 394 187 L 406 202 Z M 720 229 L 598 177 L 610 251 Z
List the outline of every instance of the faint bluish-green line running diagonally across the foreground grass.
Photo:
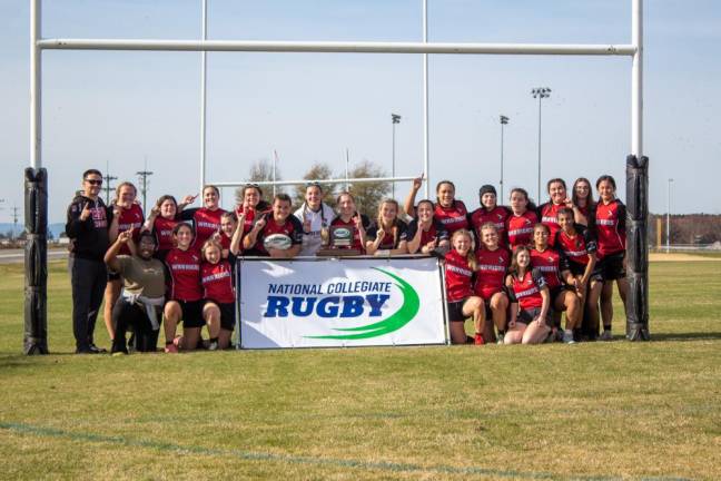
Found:
M 178 454 L 203 454 L 216 457 L 235 457 L 248 461 L 270 461 L 284 463 L 299 463 L 299 464 L 327 464 L 339 468 L 354 468 L 366 470 L 379 470 L 391 472 L 423 472 L 423 473 L 441 473 L 441 474 L 476 474 L 488 475 L 496 478 L 511 478 L 511 479 L 564 479 L 564 480 L 583 480 L 583 481 L 613 481 L 621 480 L 621 477 L 613 475 L 560 475 L 547 472 L 521 472 L 521 471 L 504 471 L 487 468 L 467 467 L 457 468 L 451 465 L 428 465 L 423 467 L 409 463 L 395 463 L 395 462 L 368 462 L 352 459 L 332 459 L 332 458 L 310 458 L 310 457 L 294 457 L 286 454 L 251 452 L 241 450 L 228 449 L 213 449 L 199 445 L 185 445 L 171 442 L 161 442 L 152 440 L 136 440 L 117 435 L 103 435 L 95 433 L 78 433 L 62 431 L 51 428 L 33 426 L 20 423 L 0 422 L 0 429 L 9 430 L 22 434 L 32 434 L 49 438 L 61 438 L 72 441 L 85 441 L 91 443 L 110 443 L 122 444 L 126 446 L 148 448 L 157 451 L 169 451 Z M 665 478 L 665 477 L 640 477 L 641 480 L 658 480 L 658 481 L 688 481 L 688 478 Z

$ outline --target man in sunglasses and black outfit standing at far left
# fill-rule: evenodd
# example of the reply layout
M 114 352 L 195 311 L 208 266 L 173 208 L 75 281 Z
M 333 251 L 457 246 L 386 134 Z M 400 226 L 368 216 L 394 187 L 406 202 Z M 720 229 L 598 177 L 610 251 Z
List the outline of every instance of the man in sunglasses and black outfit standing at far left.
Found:
M 102 174 L 88 169 L 82 174 L 82 190 L 68 207 L 66 234 L 70 238 L 68 271 L 72 285 L 72 333 L 77 354 L 105 352 L 95 345 L 98 310 L 107 283 L 103 256 L 118 233 L 110 232 L 112 209 L 100 198 Z

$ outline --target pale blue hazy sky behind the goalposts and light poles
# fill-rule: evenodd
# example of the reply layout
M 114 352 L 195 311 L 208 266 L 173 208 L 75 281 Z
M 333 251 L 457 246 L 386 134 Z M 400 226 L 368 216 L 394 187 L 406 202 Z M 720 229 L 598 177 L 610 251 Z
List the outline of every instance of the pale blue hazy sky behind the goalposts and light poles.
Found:
M 209 0 L 209 38 L 255 40 L 421 40 L 419 0 Z M 629 43 L 630 0 L 429 0 L 431 41 Z M 692 8 L 690 8 L 690 6 Z M 645 140 L 651 210 L 721 213 L 721 4 L 645 1 Z M 198 38 L 199 0 L 52 0 L 43 37 Z M 0 146 L 6 175 L 0 222 L 22 205 L 29 165 L 29 2 L 0 0 Z M 43 53 L 43 163 L 50 219 L 90 166 L 136 181 L 148 160 L 150 198 L 196 193 L 199 158 L 197 52 Z M 433 183 L 451 178 L 474 208 L 496 184 L 498 115 L 505 130 L 505 184 L 535 197 L 537 104 L 543 106 L 543 178 L 612 174 L 624 179 L 630 150 L 630 59 L 431 56 Z M 209 53 L 208 179 L 241 180 L 248 166 L 280 156 L 285 178 L 314 161 L 340 174 L 350 163 L 391 168 L 391 112 L 397 174 L 421 171 L 422 58 L 411 55 Z M 398 185 L 398 196 L 407 185 Z M 621 196 L 624 196 L 623 187 Z M 230 206 L 231 192 L 224 194 Z

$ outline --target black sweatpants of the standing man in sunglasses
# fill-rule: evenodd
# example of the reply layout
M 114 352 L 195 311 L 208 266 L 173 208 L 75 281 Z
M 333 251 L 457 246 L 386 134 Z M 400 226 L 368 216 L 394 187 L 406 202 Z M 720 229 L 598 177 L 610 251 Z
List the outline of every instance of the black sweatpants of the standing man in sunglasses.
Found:
M 108 272 L 103 262 L 72 255 L 68 258 L 68 272 L 72 286 L 72 334 L 76 347 L 85 351 L 93 344 L 92 334 L 108 283 Z

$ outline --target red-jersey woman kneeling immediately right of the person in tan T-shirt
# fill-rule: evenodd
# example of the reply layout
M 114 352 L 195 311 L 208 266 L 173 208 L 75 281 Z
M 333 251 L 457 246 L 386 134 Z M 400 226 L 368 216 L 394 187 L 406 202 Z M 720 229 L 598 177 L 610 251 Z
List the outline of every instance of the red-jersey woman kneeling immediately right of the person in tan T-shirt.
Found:
M 200 287 L 200 254 L 194 245 L 192 228 L 179 223 L 172 229 L 175 247 L 166 256 L 170 275 L 170 289 L 166 302 L 165 335 L 167 353 L 177 353 L 178 347 L 192 350 L 200 340 L 203 320 L 203 289 Z M 182 337 L 176 340 L 178 323 L 182 321 Z

